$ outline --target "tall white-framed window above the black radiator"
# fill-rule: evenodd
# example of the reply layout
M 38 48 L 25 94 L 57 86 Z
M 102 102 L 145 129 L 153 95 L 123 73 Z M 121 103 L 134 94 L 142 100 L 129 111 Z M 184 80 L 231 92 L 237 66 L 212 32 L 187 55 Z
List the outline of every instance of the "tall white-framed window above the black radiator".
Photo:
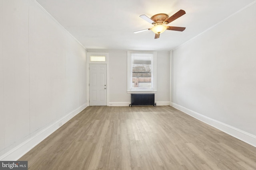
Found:
M 127 91 L 156 91 L 156 52 L 128 51 Z

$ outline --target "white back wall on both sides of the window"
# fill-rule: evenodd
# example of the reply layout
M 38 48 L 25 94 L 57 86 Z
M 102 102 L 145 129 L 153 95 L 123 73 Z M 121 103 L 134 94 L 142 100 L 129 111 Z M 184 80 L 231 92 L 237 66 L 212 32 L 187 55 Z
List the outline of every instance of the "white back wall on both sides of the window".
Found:
M 88 52 L 109 53 L 109 105 L 129 106 L 130 94 L 127 94 L 127 51 L 100 51 Z M 157 105 L 169 105 L 170 85 L 170 52 L 157 52 Z

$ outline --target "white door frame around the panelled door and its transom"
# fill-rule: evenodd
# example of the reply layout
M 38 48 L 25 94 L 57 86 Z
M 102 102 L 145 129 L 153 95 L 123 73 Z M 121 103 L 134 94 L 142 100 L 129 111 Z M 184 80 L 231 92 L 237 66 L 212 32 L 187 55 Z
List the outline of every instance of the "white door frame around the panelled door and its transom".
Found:
M 94 56 L 106 56 L 106 61 L 90 61 L 90 56 L 94 55 Z M 86 79 L 87 79 L 87 105 L 90 106 L 90 70 L 89 70 L 89 66 L 90 64 L 106 64 L 107 66 L 107 106 L 109 106 L 109 64 L 108 64 L 108 53 L 102 53 L 102 52 L 87 52 L 86 51 Z

